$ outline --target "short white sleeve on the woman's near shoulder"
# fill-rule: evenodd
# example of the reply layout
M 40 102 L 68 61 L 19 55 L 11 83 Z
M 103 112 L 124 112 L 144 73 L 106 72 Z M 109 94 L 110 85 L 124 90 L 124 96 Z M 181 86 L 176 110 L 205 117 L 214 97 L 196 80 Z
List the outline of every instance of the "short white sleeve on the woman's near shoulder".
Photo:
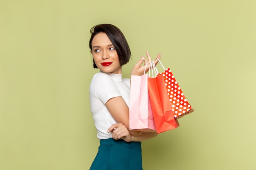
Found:
M 115 82 L 106 73 L 97 73 L 93 76 L 90 84 L 91 95 L 106 104 L 109 99 L 121 96 Z

